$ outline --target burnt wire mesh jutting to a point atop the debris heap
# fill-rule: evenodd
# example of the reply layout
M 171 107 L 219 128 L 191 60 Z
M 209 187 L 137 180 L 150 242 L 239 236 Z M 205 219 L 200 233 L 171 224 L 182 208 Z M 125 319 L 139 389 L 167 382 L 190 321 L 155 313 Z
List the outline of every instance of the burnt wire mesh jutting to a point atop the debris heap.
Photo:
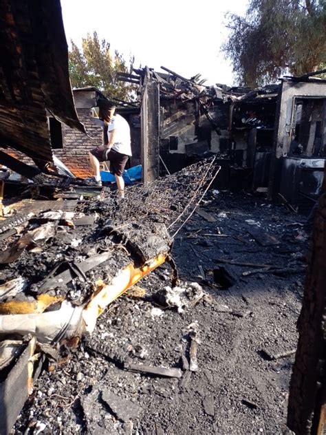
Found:
M 105 198 L 87 204 L 87 211 L 97 211 L 115 222 L 163 223 L 173 237 L 195 211 L 218 171 L 215 157 L 202 160 L 171 176 L 127 187 L 126 198 L 118 205 L 116 195 L 106 189 Z

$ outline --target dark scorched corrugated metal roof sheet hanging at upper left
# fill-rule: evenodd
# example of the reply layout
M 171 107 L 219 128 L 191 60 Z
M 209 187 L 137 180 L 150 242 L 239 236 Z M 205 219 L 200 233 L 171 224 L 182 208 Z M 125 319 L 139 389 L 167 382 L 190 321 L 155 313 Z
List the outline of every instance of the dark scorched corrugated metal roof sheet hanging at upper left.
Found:
M 0 2 L 0 146 L 52 161 L 46 109 L 85 132 L 68 72 L 59 0 Z

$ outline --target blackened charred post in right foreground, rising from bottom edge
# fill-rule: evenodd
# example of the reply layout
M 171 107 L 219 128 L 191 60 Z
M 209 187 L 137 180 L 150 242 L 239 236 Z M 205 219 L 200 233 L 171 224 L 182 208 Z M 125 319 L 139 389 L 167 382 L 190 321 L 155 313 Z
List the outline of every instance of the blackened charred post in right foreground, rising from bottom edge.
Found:
M 287 409 L 287 426 L 296 435 L 319 435 L 325 430 L 326 167 L 310 254 Z

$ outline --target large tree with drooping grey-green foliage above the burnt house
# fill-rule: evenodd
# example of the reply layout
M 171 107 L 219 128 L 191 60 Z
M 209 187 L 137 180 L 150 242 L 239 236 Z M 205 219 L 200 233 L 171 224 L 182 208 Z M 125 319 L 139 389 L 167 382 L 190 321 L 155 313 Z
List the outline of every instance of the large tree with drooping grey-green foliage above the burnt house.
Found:
M 241 85 L 326 67 L 325 0 L 250 0 L 245 17 L 228 14 L 227 27 L 222 50 Z

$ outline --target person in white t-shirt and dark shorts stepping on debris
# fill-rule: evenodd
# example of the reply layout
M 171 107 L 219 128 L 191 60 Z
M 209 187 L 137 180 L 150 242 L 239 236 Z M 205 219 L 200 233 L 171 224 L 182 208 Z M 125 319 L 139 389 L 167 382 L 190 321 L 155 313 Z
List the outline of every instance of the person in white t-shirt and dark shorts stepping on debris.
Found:
M 110 171 L 116 177 L 118 194 L 124 198 L 124 180 L 122 173 L 127 160 L 131 156 L 130 127 L 122 116 L 114 114 L 114 107 L 109 100 L 100 98 L 99 117 L 103 120 L 103 144 L 89 151 L 89 160 L 94 171 L 95 182 L 102 185 L 100 180 L 100 162 L 109 161 Z

